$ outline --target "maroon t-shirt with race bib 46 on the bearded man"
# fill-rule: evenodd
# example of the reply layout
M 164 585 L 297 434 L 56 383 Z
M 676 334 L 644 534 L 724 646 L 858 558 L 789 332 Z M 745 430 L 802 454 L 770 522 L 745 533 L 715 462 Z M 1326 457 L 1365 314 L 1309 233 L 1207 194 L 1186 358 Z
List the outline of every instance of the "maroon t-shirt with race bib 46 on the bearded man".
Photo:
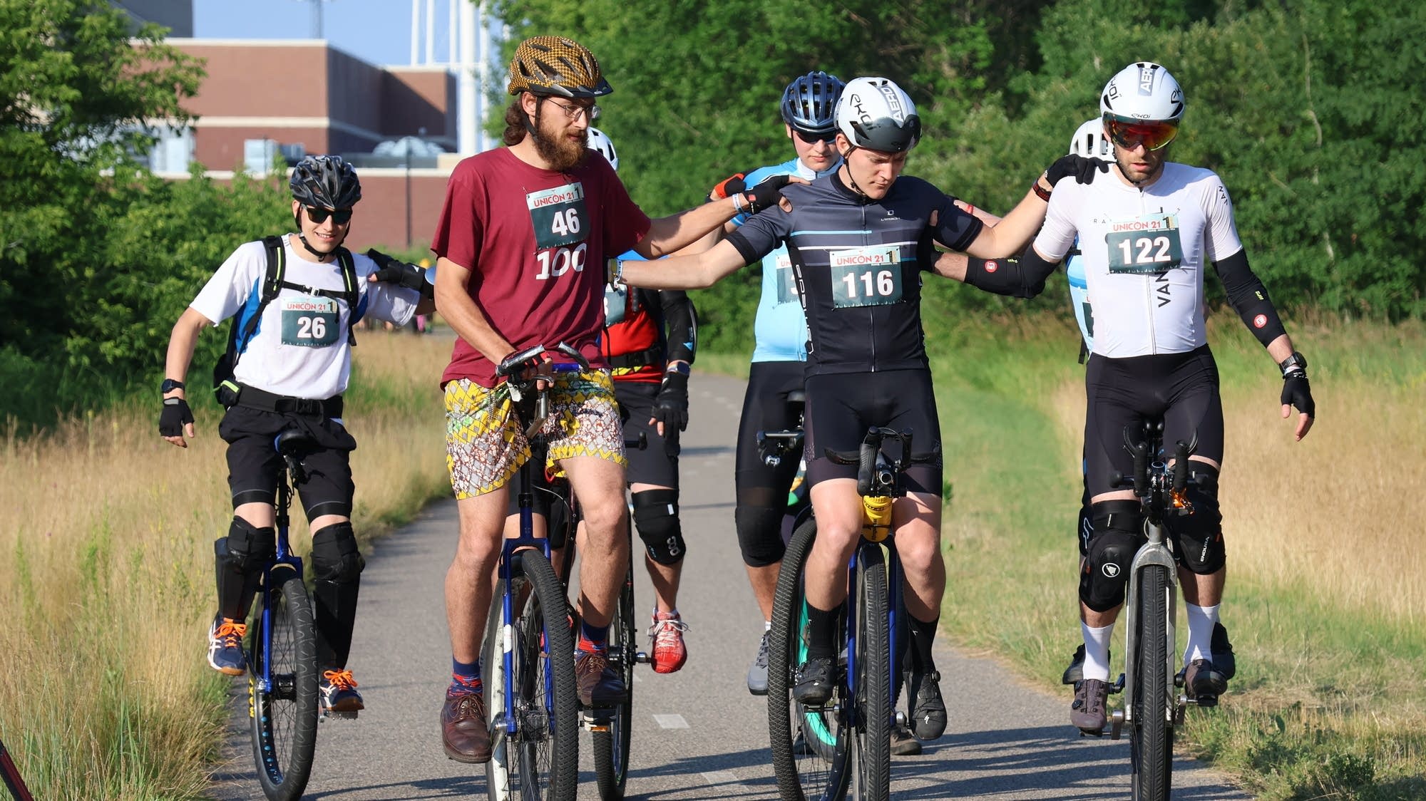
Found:
M 516 349 L 569 342 L 603 366 L 605 259 L 633 248 L 649 225 L 593 151 L 575 170 L 552 172 L 501 147 L 451 172 L 431 249 L 473 272 L 471 298 Z M 493 386 L 495 368 L 458 338 L 441 383 Z

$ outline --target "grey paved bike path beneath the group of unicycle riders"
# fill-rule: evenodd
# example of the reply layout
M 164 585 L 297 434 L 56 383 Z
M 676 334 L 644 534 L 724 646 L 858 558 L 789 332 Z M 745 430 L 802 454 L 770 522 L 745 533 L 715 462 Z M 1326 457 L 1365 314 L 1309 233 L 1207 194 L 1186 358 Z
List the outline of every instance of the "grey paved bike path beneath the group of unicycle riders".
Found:
M 760 636 L 733 533 L 733 436 L 744 383 L 697 375 L 684 433 L 682 517 L 689 567 L 680 611 L 692 626 L 690 661 L 676 674 L 636 670 L 627 795 L 656 800 L 776 798 L 766 698 L 747 694 L 744 671 Z M 439 458 L 434 455 L 432 458 Z M 304 798 L 332 801 L 485 797 L 485 771 L 445 758 L 438 714 L 449 680 L 442 583 L 455 550 L 453 502 L 432 505 L 371 549 L 362 573 L 351 666 L 366 711 L 324 721 Z M 1070 589 L 1067 587 L 1067 593 Z M 636 597 L 653 597 L 640 574 Z M 920 757 L 894 758 L 894 798 L 1087 801 L 1129 795 L 1128 740 L 1078 737 L 1068 688 L 1022 686 L 995 661 L 940 646 L 945 737 Z M 247 738 L 247 684 L 234 683 L 220 800 L 261 798 Z M 1192 714 L 1192 711 L 1191 711 Z M 580 735 L 580 798 L 596 798 L 589 735 Z M 1174 798 L 1248 798 L 1192 760 L 1174 764 Z

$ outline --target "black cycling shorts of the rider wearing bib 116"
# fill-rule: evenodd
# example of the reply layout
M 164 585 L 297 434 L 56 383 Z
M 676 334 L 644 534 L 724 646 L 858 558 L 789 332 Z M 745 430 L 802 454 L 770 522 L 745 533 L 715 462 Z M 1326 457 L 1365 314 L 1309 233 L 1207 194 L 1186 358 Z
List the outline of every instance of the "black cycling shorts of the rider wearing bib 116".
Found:
M 807 483 L 856 479 L 856 465 L 837 465 L 827 449 L 856 453 L 871 426 L 911 430 L 911 452 L 927 453 L 941 443 L 931 371 L 823 373 L 807 379 Z M 887 453 L 891 449 L 887 448 Z M 894 456 L 900 456 L 900 449 Z M 941 496 L 941 465 L 913 465 L 907 492 Z

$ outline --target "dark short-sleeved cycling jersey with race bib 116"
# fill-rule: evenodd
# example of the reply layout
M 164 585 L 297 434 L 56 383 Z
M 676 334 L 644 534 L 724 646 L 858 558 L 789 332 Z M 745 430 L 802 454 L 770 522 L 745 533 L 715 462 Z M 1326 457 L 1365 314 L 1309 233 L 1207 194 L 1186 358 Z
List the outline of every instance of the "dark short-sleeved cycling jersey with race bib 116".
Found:
M 935 265 L 933 242 L 963 251 L 981 221 L 913 177 L 897 178 L 881 200 L 837 174 L 790 184 L 783 198 L 727 241 L 747 264 L 786 242 L 807 314 L 807 375 L 927 366 L 921 271 Z

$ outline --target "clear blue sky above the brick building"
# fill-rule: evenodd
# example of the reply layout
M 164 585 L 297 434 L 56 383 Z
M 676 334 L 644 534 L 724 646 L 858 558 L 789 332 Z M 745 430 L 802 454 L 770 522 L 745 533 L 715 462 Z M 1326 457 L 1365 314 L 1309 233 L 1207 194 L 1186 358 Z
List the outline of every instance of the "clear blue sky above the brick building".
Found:
M 319 0 L 321 38 L 372 64 L 411 63 L 411 0 Z M 446 60 L 451 3 L 435 0 L 435 60 Z M 314 0 L 193 0 L 197 38 L 317 38 Z M 426 0 L 421 0 L 425 14 Z M 422 36 L 425 17 L 422 16 Z M 425 38 L 421 41 L 425 56 Z

